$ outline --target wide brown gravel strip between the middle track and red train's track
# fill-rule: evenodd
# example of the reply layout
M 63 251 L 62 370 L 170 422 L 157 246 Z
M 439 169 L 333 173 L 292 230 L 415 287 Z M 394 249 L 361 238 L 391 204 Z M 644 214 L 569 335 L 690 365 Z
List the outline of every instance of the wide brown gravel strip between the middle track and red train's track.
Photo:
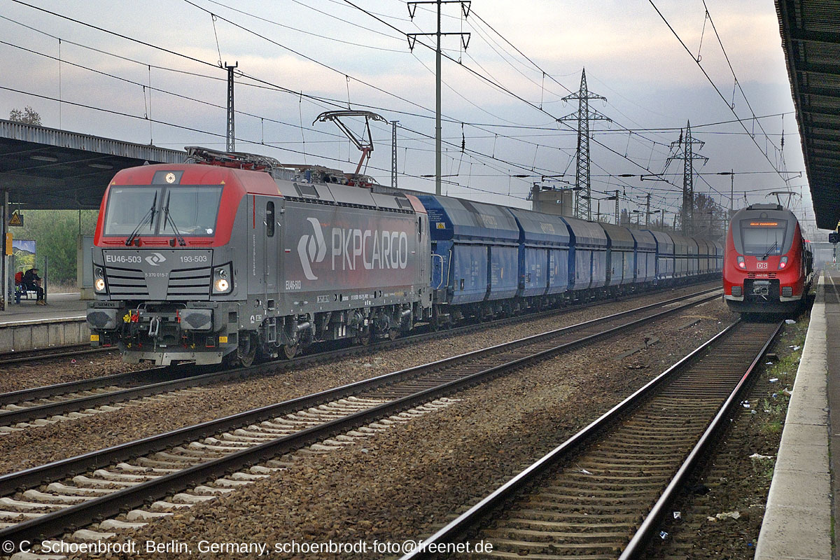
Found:
M 402 542 L 428 536 L 735 318 L 721 301 L 711 301 L 644 332 L 494 379 L 454 395 L 459 402 L 445 410 L 364 444 L 303 456 L 270 479 L 130 536 L 193 549 L 201 540 Z M 644 348 L 646 339 L 659 342 Z M 620 358 L 635 348 L 642 349 Z

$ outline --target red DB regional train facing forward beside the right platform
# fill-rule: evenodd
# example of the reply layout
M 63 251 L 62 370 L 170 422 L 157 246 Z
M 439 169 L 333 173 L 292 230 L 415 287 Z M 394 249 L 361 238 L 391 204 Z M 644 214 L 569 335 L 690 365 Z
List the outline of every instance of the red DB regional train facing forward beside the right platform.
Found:
M 741 313 L 797 311 L 811 289 L 812 261 L 793 212 L 778 204 L 743 208 L 727 232 L 723 298 Z

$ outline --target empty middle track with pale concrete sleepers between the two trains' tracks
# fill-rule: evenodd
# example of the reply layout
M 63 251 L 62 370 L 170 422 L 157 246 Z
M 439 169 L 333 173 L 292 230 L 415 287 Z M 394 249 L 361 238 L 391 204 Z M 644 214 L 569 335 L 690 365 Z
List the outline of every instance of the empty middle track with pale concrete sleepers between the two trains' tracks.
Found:
M 119 516 L 75 534 L 111 536 L 286 468 L 289 453 L 303 447 L 311 446 L 310 453 L 343 447 L 449 406 L 449 395 L 496 375 L 621 336 L 717 296 L 672 302 L 665 310 L 656 304 L 625 311 L 2 476 L 0 489 L 7 491 L 0 498 L 0 541 L 35 542 Z M 150 502 L 148 510 L 131 510 Z

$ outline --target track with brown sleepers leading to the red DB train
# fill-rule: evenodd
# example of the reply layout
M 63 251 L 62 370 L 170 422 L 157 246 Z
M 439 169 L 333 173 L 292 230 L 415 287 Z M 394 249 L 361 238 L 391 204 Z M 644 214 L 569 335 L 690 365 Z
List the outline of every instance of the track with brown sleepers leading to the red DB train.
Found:
M 491 542 L 481 557 L 643 557 L 781 327 L 733 323 L 425 543 Z

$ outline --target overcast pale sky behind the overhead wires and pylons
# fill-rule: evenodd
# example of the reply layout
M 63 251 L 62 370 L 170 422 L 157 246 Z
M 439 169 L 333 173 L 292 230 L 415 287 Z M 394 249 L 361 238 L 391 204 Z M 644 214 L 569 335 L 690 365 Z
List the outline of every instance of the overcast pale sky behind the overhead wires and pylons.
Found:
M 421 5 L 412 21 L 403 0 L 351 1 L 0 0 L 0 116 L 31 106 L 48 127 L 223 149 L 218 63 L 238 62 L 239 151 L 352 171 L 359 154 L 339 129 L 313 124 L 349 103 L 399 121 L 399 184 L 433 191 L 422 175 L 434 173 L 434 53 L 421 44 L 433 38 L 409 50 L 405 34 L 433 32 L 434 13 Z M 665 175 L 672 184 L 638 175 L 665 170 L 690 121 L 708 158 L 696 162 L 696 192 L 729 207 L 730 177 L 715 174 L 735 170 L 735 207 L 791 189 L 804 197 L 797 213 L 813 223 L 772 2 L 474 0 L 468 18 L 444 4 L 443 30 L 453 33 L 444 37 L 452 59 L 443 64 L 444 192 L 529 207 L 543 175 L 574 184 L 576 125 L 556 119 L 577 110 L 562 97 L 577 91 L 585 67 L 591 92 L 606 97 L 592 108 L 612 119 L 591 123 L 593 196 L 618 189 L 633 210 L 650 193 L 673 220 L 681 161 Z M 470 33 L 467 50 L 460 32 Z M 391 127 L 372 128 L 368 173 L 388 184 Z

